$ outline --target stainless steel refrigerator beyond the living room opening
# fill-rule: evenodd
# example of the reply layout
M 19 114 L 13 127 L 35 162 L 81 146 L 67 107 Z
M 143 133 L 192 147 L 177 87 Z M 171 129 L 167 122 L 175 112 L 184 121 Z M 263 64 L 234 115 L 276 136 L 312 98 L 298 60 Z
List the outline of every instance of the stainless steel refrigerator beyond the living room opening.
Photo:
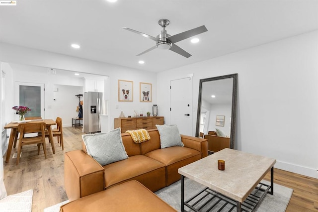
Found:
M 85 92 L 83 95 L 83 131 L 85 133 L 100 132 L 100 114 L 103 93 Z

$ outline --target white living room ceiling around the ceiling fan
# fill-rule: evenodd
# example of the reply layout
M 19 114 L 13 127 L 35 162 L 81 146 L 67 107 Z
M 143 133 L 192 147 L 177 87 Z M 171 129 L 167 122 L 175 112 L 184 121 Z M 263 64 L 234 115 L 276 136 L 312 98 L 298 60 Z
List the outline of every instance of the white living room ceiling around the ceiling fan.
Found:
M 208 32 L 177 45 L 192 56 L 155 49 L 160 18 L 174 35 Z M 0 6 L 0 41 L 139 70 L 159 72 L 318 29 L 318 0 L 17 0 Z M 78 43 L 81 48 L 71 48 Z M 144 60 L 145 64 L 138 64 Z

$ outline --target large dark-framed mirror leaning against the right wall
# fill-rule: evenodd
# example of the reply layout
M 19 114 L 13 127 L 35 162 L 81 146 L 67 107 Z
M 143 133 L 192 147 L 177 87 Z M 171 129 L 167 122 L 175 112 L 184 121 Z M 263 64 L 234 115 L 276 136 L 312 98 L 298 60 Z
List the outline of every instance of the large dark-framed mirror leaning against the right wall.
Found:
M 208 139 L 209 152 L 234 149 L 238 74 L 200 80 L 196 137 Z

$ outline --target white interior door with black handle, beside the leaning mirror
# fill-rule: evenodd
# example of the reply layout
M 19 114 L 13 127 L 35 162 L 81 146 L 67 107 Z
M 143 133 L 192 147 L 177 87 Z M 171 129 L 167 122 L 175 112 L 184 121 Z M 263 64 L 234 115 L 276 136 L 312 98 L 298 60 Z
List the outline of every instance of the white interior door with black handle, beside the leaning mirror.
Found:
M 193 135 L 192 78 L 170 81 L 170 122 L 180 134 Z

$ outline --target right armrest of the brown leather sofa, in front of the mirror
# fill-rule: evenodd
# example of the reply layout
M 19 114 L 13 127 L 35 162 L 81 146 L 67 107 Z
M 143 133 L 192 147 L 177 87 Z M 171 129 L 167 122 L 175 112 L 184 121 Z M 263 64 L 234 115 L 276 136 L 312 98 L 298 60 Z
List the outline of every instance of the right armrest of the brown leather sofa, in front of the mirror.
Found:
M 195 149 L 202 153 L 202 158 L 208 156 L 208 141 L 204 138 L 197 138 L 188 135 L 181 135 L 181 141 L 185 147 Z

